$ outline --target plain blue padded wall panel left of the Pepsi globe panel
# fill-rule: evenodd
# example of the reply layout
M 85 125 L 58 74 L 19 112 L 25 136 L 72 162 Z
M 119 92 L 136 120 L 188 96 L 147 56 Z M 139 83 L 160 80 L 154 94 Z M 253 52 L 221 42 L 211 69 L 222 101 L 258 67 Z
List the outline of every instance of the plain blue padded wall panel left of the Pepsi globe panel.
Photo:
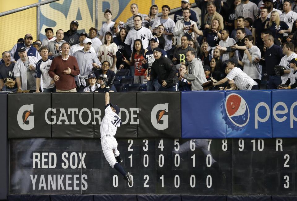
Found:
M 182 92 L 182 138 L 226 138 L 224 91 Z

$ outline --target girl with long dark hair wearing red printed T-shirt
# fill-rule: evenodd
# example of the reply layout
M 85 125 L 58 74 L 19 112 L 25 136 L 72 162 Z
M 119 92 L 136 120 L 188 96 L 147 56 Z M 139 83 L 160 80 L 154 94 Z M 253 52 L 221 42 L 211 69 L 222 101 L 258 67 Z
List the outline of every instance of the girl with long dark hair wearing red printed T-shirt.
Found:
M 142 60 L 144 59 L 144 54 L 147 51 L 147 49 L 143 49 L 142 41 L 140 39 L 136 39 L 133 44 L 133 52 L 131 54 L 130 61 L 128 61 L 126 58 L 123 59 L 123 61 L 126 62 L 130 67 L 134 66 L 134 84 L 143 84 L 144 76 L 146 75 L 146 69 L 142 67 Z

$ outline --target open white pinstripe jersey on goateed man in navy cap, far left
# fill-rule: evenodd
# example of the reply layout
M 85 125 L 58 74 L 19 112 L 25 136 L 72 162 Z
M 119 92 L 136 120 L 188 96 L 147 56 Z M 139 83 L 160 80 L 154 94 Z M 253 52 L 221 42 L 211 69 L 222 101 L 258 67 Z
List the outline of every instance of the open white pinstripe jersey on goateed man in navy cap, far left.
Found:
M 27 70 L 29 68 L 29 64 L 32 64 L 36 67 L 37 59 L 35 56 L 28 56 L 28 65 L 25 65 L 24 62 L 19 59 L 13 68 L 13 76 L 14 77 L 21 77 L 21 89 L 27 90 Z M 35 71 L 30 71 L 32 77 L 35 79 Z

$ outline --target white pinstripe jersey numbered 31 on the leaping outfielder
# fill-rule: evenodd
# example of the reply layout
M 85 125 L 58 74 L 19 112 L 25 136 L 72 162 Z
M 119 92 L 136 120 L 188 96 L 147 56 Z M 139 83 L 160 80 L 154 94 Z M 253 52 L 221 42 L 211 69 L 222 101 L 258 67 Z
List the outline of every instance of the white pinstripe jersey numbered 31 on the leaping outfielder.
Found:
M 105 137 L 105 135 L 114 136 L 117 132 L 117 127 L 121 125 L 121 118 L 111 110 L 110 105 L 105 108 L 105 115 L 102 119 L 100 126 L 101 137 Z

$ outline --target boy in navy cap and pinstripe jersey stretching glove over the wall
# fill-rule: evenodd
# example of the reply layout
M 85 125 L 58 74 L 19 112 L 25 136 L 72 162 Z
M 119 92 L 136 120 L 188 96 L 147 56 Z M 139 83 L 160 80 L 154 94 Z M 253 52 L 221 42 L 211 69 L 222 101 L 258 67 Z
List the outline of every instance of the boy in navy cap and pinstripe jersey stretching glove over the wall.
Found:
M 238 60 L 234 57 L 226 60 L 227 68 L 230 69 L 228 75 L 222 80 L 213 83 L 213 86 L 221 85 L 229 80 L 234 80 L 235 84 L 227 90 L 234 90 L 235 87 L 239 90 L 257 90 L 259 89 L 258 84 L 240 68 L 237 68 Z M 202 85 L 203 86 L 203 85 Z M 204 89 L 205 90 L 205 89 Z

